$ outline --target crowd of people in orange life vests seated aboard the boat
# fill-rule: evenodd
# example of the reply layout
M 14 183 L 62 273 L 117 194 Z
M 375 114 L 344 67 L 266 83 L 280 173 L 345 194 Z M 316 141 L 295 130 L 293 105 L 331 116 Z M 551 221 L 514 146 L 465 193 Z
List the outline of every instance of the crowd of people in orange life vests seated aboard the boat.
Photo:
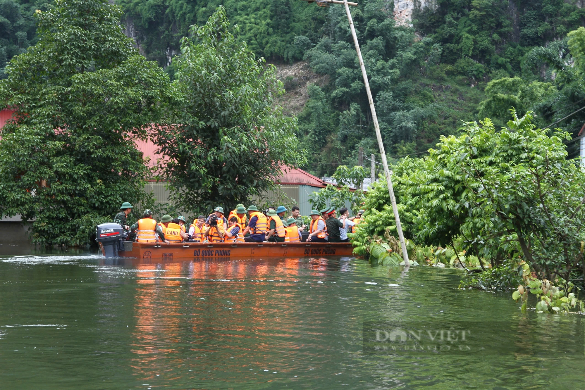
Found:
M 320 211 L 311 210 L 311 220 L 309 226 L 306 226 L 298 206 L 292 207 L 290 213 L 284 206 L 270 207 L 261 212 L 254 205 L 246 209 L 240 203 L 230 210 L 227 218 L 223 208 L 218 206 L 207 217 L 199 215 L 190 225 L 181 215 L 173 218 L 166 214 L 157 222 L 152 218 L 152 211 L 147 209 L 144 210 L 143 218 L 128 226 L 126 218 L 132 208 L 129 202 L 122 203 L 121 212 L 116 214 L 113 222 L 130 232 L 129 240 L 142 243 L 338 243 L 348 242 L 347 233 L 355 233 L 356 225 L 363 221 L 363 210 L 350 217 L 349 210 L 341 208 L 338 218 L 337 210 L 329 207 Z

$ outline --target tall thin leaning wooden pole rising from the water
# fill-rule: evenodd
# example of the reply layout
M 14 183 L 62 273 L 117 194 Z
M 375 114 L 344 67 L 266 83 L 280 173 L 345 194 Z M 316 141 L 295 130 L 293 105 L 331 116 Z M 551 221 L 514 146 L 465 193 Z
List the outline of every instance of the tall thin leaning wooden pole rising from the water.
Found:
M 338 0 L 339 1 L 339 0 Z M 337 1 L 332 1 L 337 2 Z M 366 67 L 364 66 L 364 60 L 362 58 L 362 51 L 360 45 L 357 42 L 356 29 L 353 27 L 352 13 L 349 12 L 349 3 L 347 0 L 343 0 L 345 6 L 345 12 L 347 13 L 347 20 L 349 21 L 349 27 L 352 30 L 353 42 L 356 44 L 357 58 L 360 61 L 360 67 L 362 68 L 362 76 L 364 78 L 364 84 L 366 85 L 367 99 L 370 103 L 371 119 L 374 122 L 374 130 L 376 130 L 376 139 L 378 140 L 378 147 L 380 147 L 380 154 L 382 158 L 382 165 L 384 165 L 384 174 L 386 174 L 386 182 L 388 183 L 388 193 L 390 194 L 390 202 L 392 203 L 392 211 L 394 212 L 394 219 L 396 220 L 396 230 L 398 232 L 398 238 L 400 238 L 400 246 L 402 247 L 402 257 L 404 258 L 404 265 L 410 265 L 408 261 L 408 253 L 406 251 L 406 243 L 404 241 L 404 234 L 402 234 L 402 225 L 400 223 L 400 216 L 398 216 L 398 207 L 396 206 L 396 198 L 394 197 L 394 189 L 392 187 L 392 179 L 390 178 L 390 170 L 388 170 L 388 161 L 386 161 L 386 151 L 384 151 L 384 144 L 382 143 L 382 136 L 380 134 L 380 125 L 378 125 L 378 117 L 376 116 L 376 108 L 374 108 L 374 99 L 371 97 L 370 83 L 367 80 Z M 353 4 L 352 4 L 353 5 Z M 372 155 L 372 167 L 374 166 L 374 156 Z

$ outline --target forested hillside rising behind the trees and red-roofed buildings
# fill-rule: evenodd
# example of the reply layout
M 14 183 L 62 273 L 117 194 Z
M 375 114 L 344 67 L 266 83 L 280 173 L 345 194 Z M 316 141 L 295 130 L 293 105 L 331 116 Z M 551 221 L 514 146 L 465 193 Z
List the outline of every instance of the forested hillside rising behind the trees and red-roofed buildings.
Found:
M 23 2 L 22 21 L 12 21 L 16 1 L 0 3 L 1 43 L 9 48 L 0 49 L 0 57 L 1 50 L 9 58 L 26 47 L 18 38 L 22 29 L 28 29 L 26 40 L 35 39 L 30 33 L 35 6 Z M 305 168 L 328 175 L 339 164 L 356 163 L 359 146 L 376 153 L 343 6 L 320 8 L 299 0 L 116 2 L 125 11 L 126 34 L 171 77 L 170 60 L 188 27 L 204 24 L 225 6 L 230 22 L 239 26 L 238 39 L 256 56 L 277 66 L 304 60 L 318 76 L 282 80 L 292 93 L 304 85 L 302 79 L 319 80 L 304 85 L 308 100 L 298 113 L 297 135 L 309 152 Z M 456 133 L 462 120 L 490 116 L 503 126 L 511 106 L 519 114 L 534 110 L 539 126 L 578 132 L 585 114 L 570 114 L 585 105 L 585 91 L 567 33 L 585 25 L 580 6 L 572 0 L 439 0 L 415 10 L 412 27 L 395 23 L 391 1 L 362 0 L 352 7 L 388 155 L 424 153 L 440 134 Z

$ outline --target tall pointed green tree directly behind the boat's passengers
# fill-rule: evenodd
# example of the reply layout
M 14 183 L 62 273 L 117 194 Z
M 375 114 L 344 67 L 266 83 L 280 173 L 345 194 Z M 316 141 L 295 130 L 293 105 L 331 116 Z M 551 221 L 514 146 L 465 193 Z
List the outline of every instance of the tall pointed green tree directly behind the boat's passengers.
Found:
M 156 141 L 170 158 L 164 175 L 183 209 L 246 203 L 273 188 L 282 165 L 304 164 L 296 119 L 273 106 L 283 93 L 274 66 L 236 41 L 223 7 L 192 27 L 173 64 L 179 125 L 161 129 Z

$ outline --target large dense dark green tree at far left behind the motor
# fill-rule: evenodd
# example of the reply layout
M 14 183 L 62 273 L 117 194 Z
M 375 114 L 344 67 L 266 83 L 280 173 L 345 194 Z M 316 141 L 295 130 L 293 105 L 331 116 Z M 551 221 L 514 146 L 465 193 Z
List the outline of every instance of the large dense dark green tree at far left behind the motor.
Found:
M 0 214 L 33 220 L 33 240 L 84 244 L 123 201 L 146 200 L 146 137 L 170 81 L 132 47 L 106 0 L 58 0 L 38 15 L 39 42 L 12 58 L 2 107 Z

